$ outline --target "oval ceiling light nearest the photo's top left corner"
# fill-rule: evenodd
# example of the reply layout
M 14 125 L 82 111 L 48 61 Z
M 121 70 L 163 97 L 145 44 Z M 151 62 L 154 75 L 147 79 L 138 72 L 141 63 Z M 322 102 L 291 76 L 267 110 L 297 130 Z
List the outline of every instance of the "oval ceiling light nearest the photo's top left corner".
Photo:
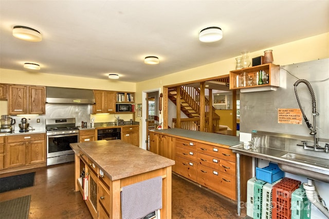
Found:
M 38 30 L 25 26 L 14 26 L 12 29 L 12 35 L 16 38 L 23 39 L 24 41 L 42 41 L 41 33 Z

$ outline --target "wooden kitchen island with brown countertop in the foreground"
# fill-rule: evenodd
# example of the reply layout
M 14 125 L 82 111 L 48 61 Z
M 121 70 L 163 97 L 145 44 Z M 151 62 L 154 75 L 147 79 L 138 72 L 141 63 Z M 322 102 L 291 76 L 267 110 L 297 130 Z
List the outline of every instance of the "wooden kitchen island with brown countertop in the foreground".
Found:
M 174 161 L 121 140 L 70 146 L 75 151 L 75 191 L 81 192 L 94 218 L 121 218 L 122 187 L 158 176 L 162 177 L 160 215 L 171 218 L 171 166 Z

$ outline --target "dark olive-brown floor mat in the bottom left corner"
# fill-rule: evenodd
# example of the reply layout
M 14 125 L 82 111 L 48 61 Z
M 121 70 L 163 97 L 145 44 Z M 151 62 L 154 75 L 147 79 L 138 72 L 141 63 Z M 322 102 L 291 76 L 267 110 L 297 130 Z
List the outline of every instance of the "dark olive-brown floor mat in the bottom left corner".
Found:
M 30 210 L 31 195 L 0 202 L 0 218 L 27 219 Z

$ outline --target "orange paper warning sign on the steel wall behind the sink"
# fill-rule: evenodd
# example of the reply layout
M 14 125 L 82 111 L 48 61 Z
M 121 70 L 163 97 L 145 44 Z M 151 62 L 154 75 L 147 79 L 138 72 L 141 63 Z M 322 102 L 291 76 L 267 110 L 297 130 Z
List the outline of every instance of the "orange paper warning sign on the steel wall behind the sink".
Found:
M 278 123 L 302 124 L 303 115 L 300 109 L 278 109 Z

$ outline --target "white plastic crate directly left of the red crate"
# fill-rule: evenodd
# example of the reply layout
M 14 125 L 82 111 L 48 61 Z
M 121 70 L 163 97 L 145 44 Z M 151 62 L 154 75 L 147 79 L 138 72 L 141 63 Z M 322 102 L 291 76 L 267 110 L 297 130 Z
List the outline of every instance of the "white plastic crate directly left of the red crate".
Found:
M 272 184 L 266 183 L 263 186 L 263 202 L 262 202 L 262 218 L 271 219 L 272 218 L 272 188 L 274 185 L 281 181 L 278 180 Z

